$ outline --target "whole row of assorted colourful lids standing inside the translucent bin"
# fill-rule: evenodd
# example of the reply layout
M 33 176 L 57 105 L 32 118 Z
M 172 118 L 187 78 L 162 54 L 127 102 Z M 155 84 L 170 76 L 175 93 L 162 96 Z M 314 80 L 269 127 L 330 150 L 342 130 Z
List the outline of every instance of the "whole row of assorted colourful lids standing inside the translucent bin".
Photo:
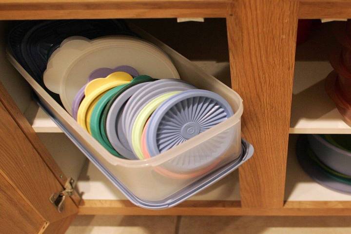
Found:
M 130 36 L 63 40 L 48 59 L 45 86 L 59 94 L 78 124 L 112 155 L 148 159 L 233 116 L 218 94 L 179 78 L 154 44 Z M 179 156 L 157 170 L 193 177 L 213 169 L 231 141 Z

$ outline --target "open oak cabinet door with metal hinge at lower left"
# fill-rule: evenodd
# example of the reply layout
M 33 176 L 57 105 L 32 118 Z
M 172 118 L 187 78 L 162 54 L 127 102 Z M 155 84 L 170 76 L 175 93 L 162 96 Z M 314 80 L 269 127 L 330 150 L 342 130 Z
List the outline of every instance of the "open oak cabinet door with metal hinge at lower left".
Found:
M 0 84 L 0 233 L 65 233 L 78 213 L 77 201 L 66 197 L 59 212 L 49 200 L 65 180 Z

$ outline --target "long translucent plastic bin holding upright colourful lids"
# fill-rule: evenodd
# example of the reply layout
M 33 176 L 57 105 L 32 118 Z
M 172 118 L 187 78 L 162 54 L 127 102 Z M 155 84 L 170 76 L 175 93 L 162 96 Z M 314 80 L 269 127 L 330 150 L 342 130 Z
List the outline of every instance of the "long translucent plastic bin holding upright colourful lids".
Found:
M 130 27 L 170 56 L 181 79 L 225 98 L 232 106 L 234 116 L 150 159 L 120 159 L 83 130 L 11 55 L 8 59 L 33 87 L 43 109 L 105 176 L 138 206 L 163 209 L 178 204 L 226 176 L 252 156 L 253 148 L 241 140 L 243 104 L 237 93 L 164 43 L 133 25 Z M 187 161 L 189 158 L 204 161 L 193 167 L 193 162 Z M 206 161 L 206 158 L 212 159 Z

